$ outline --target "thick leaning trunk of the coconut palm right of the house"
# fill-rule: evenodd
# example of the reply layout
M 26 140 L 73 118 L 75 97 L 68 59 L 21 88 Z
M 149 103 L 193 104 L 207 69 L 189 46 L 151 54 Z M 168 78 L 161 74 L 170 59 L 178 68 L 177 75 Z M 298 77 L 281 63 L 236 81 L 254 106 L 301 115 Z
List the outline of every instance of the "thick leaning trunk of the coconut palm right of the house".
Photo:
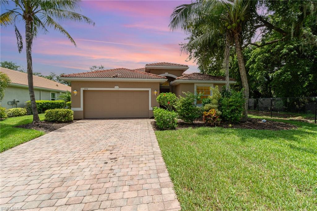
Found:
M 243 115 L 241 120 L 246 121 L 248 119 L 249 84 L 248 84 L 247 73 L 245 71 L 242 48 L 240 44 L 240 37 L 237 31 L 234 32 L 234 38 L 235 38 L 235 45 L 236 45 L 236 52 L 237 52 L 239 71 L 240 71 L 240 76 L 242 81 L 242 87 L 244 89 L 243 94 L 245 99 Z

